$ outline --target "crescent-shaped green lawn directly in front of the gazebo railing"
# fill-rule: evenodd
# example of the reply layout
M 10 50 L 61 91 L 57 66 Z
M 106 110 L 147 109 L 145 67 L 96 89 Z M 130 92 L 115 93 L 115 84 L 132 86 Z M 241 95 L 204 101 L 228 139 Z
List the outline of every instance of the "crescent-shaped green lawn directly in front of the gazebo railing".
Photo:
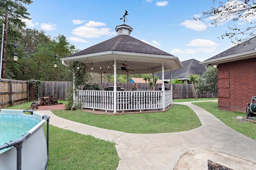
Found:
M 201 125 L 196 113 L 187 106 L 174 105 L 166 112 L 126 115 L 97 115 L 86 110 L 52 110 L 68 120 L 126 133 L 167 133 L 187 131 Z

